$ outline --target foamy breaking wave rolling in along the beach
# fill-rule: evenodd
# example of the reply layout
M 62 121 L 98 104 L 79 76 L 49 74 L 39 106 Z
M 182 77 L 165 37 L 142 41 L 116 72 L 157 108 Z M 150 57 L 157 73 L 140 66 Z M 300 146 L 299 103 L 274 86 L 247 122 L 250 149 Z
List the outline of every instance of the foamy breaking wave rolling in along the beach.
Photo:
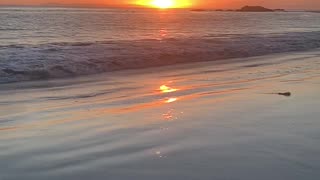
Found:
M 0 83 L 305 51 L 320 32 L 0 46 Z

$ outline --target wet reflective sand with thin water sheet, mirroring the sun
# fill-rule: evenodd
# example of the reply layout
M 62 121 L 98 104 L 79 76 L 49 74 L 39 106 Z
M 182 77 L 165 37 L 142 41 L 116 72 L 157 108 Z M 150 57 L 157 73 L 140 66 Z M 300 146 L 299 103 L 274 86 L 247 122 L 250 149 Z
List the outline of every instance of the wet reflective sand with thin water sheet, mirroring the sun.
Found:
M 2 84 L 0 179 L 315 179 L 319 60 L 314 51 Z

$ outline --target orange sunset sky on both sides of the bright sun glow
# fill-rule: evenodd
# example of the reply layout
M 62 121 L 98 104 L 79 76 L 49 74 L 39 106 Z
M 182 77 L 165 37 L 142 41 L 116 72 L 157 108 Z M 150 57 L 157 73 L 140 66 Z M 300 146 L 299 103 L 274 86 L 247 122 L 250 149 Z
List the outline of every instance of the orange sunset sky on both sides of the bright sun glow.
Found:
M 96 4 L 128 6 L 138 0 L 0 0 L 3 5 L 43 4 Z M 179 0 L 176 0 L 179 1 Z M 185 1 L 185 0 L 182 0 Z M 261 5 L 267 8 L 320 9 L 320 0 L 188 0 L 194 8 L 240 8 L 244 5 Z

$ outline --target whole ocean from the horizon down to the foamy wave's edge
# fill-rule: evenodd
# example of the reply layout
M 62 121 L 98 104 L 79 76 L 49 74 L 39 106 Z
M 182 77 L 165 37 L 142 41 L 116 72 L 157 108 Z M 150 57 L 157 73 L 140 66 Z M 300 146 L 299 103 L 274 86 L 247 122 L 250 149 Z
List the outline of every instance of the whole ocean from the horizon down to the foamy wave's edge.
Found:
M 320 14 L 0 8 L 0 83 L 320 47 Z

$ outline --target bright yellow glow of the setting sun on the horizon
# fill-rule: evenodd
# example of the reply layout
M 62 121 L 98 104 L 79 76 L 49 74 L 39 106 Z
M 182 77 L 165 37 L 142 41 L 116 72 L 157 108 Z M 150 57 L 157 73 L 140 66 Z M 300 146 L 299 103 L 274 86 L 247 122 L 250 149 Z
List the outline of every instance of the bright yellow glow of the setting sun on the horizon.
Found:
M 135 4 L 158 9 L 190 7 L 189 0 L 138 0 Z

